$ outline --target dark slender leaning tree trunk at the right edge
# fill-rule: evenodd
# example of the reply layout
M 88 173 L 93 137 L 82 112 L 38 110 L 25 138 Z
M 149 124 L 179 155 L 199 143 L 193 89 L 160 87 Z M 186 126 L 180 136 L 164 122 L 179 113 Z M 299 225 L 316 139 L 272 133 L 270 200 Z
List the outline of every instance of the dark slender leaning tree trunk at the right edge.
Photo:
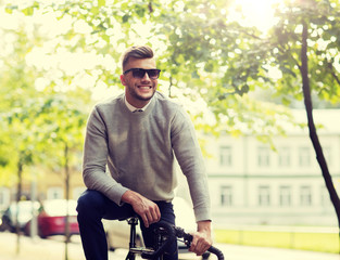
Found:
M 319 143 L 318 135 L 316 133 L 316 128 L 313 119 L 313 104 L 311 96 L 311 87 L 308 79 L 308 61 L 307 61 L 307 37 L 308 37 L 308 28 L 307 24 L 303 23 L 303 31 L 302 31 L 302 48 L 301 48 L 301 67 L 300 72 L 302 75 L 302 90 L 304 95 L 304 105 L 307 115 L 308 129 L 310 129 L 310 139 L 313 143 L 314 151 L 316 153 L 317 162 L 322 169 L 323 177 L 330 196 L 330 200 L 335 207 L 337 218 L 338 218 L 338 227 L 339 227 L 339 240 L 340 240 L 340 199 L 335 188 L 333 182 L 331 180 L 331 176 L 328 170 L 328 166 L 323 153 L 323 147 Z M 340 253 L 340 250 L 339 250 Z

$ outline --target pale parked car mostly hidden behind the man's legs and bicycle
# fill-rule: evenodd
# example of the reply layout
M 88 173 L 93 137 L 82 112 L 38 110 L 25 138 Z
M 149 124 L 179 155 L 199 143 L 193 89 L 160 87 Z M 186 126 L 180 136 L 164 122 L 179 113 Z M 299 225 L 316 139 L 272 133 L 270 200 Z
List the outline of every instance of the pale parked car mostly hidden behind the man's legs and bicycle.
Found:
M 185 229 L 186 232 L 194 232 L 196 220 L 192 208 L 189 204 L 181 197 L 175 197 L 173 200 L 174 211 L 176 214 L 176 225 Z M 127 249 L 129 246 L 129 235 L 130 235 L 130 225 L 127 221 L 117 221 L 117 220 L 103 220 L 103 225 L 106 233 L 108 246 L 110 250 L 115 250 L 117 248 Z M 137 242 L 136 246 L 143 246 L 142 234 L 139 226 L 136 229 Z M 181 253 L 191 253 L 188 251 L 187 246 L 184 243 L 178 243 L 178 252 L 179 259 L 181 259 Z M 193 259 L 194 259 L 193 255 Z M 206 253 L 203 259 L 207 259 L 209 253 Z M 187 259 L 187 258 L 185 258 Z M 192 259 L 192 257 L 190 257 Z

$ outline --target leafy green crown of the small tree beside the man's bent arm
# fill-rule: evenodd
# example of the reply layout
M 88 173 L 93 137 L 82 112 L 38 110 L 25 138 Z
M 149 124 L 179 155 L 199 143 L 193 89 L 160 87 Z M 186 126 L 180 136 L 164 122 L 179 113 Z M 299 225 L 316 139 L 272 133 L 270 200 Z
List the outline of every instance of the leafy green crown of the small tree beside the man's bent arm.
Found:
M 37 125 L 39 132 L 41 162 L 50 169 L 61 171 L 65 162 L 79 164 L 84 128 L 88 109 L 81 100 L 62 94 L 49 95 L 39 106 Z M 65 158 L 65 147 L 72 153 Z

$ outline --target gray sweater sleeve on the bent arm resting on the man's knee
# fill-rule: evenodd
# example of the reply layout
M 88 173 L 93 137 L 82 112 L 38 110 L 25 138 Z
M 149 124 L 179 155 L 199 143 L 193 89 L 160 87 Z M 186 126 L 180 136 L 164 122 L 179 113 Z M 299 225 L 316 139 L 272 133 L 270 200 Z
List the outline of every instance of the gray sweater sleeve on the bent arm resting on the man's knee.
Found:
M 97 107 L 92 110 L 86 129 L 83 178 L 85 185 L 121 205 L 122 195 L 128 190 L 106 173 L 108 133 L 104 119 Z

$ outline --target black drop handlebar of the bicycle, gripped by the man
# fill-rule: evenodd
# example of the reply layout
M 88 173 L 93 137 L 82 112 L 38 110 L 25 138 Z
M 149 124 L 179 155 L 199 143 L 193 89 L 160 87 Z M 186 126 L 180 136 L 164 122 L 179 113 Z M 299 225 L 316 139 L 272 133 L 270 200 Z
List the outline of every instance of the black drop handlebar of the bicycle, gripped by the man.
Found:
M 160 257 L 164 252 L 164 250 L 166 249 L 166 247 L 168 247 L 168 245 L 171 243 L 175 242 L 176 237 L 184 238 L 187 247 L 188 248 L 190 247 L 190 244 L 192 242 L 192 235 L 189 234 L 189 233 L 186 233 L 184 229 L 175 226 L 175 225 L 172 225 L 172 224 L 169 224 L 168 222 L 165 222 L 165 221 L 160 221 L 156 225 L 158 225 L 156 229 L 161 227 L 161 229 L 164 230 L 165 234 L 167 234 L 167 239 L 155 251 L 142 252 L 141 253 L 142 258 L 144 258 L 144 259 L 156 259 L 158 257 Z M 214 246 L 211 246 L 207 249 L 207 251 L 216 255 L 218 260 L 224 260 L 224 255 L 223 255 L 223 252 L 218 248 L 216 248 Z

